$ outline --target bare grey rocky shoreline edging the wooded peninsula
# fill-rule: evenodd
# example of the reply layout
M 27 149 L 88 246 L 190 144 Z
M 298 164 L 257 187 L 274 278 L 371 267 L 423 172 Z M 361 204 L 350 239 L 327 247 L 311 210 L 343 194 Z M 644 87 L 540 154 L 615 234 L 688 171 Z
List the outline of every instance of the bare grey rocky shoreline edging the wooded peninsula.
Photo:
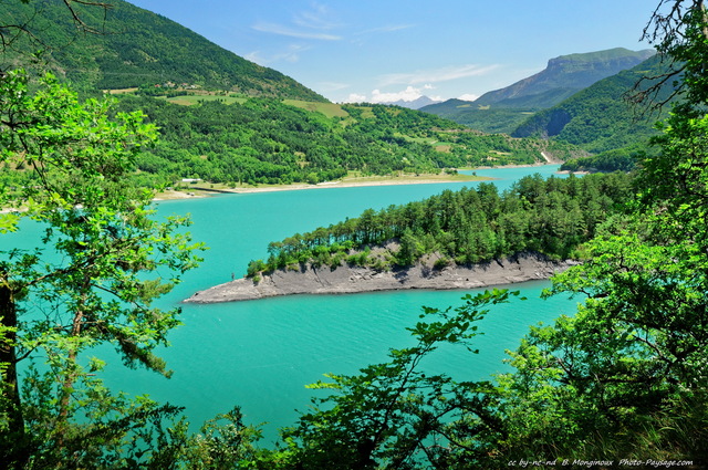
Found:
M 516 282 L 549 279 L 577 264 L 576 261 L 553 261 L 548 257 L 524 252 L 470 267 L 449 265 L 435 269 L 418 263 L 408 269 L 377 272 L 358 267 L 306 267 L 279 270 L 254 283 L 238 279 L 195 293 L 185 302 L 218 303 L 266 299 L 293 294 L 348 294 L 406 289 L 451 290 L 476 289 Z

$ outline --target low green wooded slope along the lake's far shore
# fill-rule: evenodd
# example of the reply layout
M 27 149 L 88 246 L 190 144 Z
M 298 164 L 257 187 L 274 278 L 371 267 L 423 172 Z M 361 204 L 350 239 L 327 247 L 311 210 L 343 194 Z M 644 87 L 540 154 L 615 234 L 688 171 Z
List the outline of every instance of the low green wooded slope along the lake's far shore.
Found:
M 451 121 L 402 107 L 282 103 L 250 98 L 179 106 L 125 96 L 162 138 L 138 168 L 165 184 L 316 184 L 348 171 L 363 175 L 438 174 L 445 168 L 534 164 L 542 153 L 565 160 L 581 150 L 543 139 L 483 135 Z

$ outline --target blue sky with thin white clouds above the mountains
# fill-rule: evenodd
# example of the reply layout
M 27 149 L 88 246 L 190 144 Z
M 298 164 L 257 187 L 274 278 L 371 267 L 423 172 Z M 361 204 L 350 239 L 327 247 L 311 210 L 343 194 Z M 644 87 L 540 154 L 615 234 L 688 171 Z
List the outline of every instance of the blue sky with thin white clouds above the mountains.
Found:
M 333 102 L 473 100 L 639 38 L 658 0 L 133 0 Z

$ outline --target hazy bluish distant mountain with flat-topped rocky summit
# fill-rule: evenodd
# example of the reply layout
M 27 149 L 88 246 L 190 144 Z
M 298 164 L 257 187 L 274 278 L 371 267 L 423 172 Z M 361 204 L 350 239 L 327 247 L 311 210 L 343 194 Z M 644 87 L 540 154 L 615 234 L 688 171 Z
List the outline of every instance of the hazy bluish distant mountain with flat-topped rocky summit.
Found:
M 420 108 L 488 133 L 512 133 L 530 115 L 554 106 L 579 91 L 631 69 L 655 51 L 607 51 L 551 59 L 545 70 L 506 88 L 485 93 L 473 102 L 448 100 Z

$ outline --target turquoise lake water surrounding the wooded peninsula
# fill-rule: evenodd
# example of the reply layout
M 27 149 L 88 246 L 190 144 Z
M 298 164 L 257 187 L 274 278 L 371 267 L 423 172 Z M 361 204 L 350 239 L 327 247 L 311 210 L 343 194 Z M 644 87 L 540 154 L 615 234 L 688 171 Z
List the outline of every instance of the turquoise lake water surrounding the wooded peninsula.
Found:
M 558 166 L 477 170 L 499 178 L 507 188 L 533 173 L 552 175 Z M 294 232 L 356 217 L 366 208 L 384 208 L 459 189 L 469 184 L 323 188 L 298 191 L 228 195 L 165 201 L 160 215 L 191 213 L 190 231 L 210 250 L 202 265 L 184 279 L 160 306 L 170 307 L 195 291 L 241 276 L 248 261 L 267 257 L 270 241 Z M 504 349 L 514 348 L 528 325 L 571 314 L 575 301 L 539 294 L 546 282 L 517 284 L 528 301 L 494 307 L 481 323 L 486 334 L 479 355 L 445 348 L 427 367 L 458 379 L 481 379 L 504 370 Z M 173 347 L 160 352 L 174 370 L 171 379 L 145 370 L 127 370 L 112 359 L 107 382 L 116 389 L 149 394 L 159 401 L 186 407 L 192 424 L 201 424 L 240 405 L 249 424 L 262 424 L 268 440 L 277 429 L 294 424 L 313 391 L 304 385 L 325 373 L 354 373 L 386 359 L 391 347 L 412 344 L 406 326 L 421 305 L 460 304 L 467 291 L 406 291 L 355 295 L 299 295 L 212 305 L 185 304 L 184 325 L 170 334 Z

